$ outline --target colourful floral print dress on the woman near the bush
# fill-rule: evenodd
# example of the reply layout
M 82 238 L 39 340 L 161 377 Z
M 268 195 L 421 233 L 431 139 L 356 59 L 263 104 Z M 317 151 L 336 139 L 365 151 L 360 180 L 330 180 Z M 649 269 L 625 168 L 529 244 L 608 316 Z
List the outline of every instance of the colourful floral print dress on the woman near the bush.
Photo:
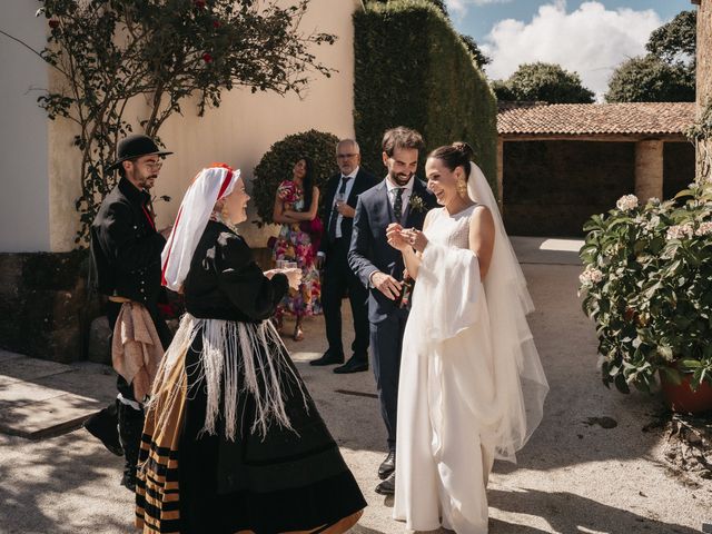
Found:
M 279 199 L 285 202 L 285 209 L 303 211 L 304 191 L 291 180 L 284 180 L 277 188 Z M 303 229 L 307 226 L 299 222 L 281 225 L 279 236 L 275 243 L 273 258 L 275 261 L 296 261 L 301 269 L 301 285 L 298 290 L 290 289 L 277 309 L 277 315 L 285 312 L 298 317 L 318 315 L 322 313 L 322 283 L 319 270 L 315 265 L 316 249 L 309 233 Z

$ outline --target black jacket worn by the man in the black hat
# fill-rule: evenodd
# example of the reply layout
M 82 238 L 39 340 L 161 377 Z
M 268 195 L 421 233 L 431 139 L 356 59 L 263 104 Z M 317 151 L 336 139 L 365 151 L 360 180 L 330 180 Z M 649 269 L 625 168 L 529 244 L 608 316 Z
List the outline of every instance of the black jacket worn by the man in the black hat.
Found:
M 150 214 L 150 195 L 126 178 L 101 202 L 91 225 L 99 293 L 149 306 L 158 301 L 166 239 L 156 231 Z

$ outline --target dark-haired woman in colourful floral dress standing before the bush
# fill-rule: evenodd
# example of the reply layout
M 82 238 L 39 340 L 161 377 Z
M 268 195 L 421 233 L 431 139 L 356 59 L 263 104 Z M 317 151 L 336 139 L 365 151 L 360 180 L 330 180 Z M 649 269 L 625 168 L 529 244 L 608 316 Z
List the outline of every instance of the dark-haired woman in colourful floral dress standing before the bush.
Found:
M 291 170 L 291 179 L 277 188 L 273 219 L 281 224 L 274 247 L 275 261 L 296 261 L 301 269 L 301 285 L 289 294 L 277 308 L 277 329 L 281 329 L 283 316 L 287 312 L 296 316 L 294 339 L 304 339 L 304 317 L 322 313 L 322 285 L 315 265 L 319 248 L 322 225 L 317 217 L 319 189 L 314 186 L 314 166 L 309 158 L 299 158 Z

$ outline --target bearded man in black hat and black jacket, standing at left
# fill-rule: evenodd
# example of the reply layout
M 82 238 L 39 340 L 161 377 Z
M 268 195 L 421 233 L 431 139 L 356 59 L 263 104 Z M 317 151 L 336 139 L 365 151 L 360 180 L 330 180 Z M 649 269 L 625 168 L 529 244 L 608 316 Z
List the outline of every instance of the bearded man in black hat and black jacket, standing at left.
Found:
M 113 454 L 123 454 L 121 484 L 131 491 L 144 427 L 142 402 L 170 343 L 170 332 L 158 310 L 160 254 L 170 228 L 156 229 L 149 192 L 162 157 L 169 154 L 147 136 L 122 139 L 109 167 L 110 171 L 118 169 L 121 177 L 91 225 L 91 254 L 99 293 L 108 298 L 106 314 L 113 333 L 111 359 L 119 373 L 119 393 L 116 404 L 87 419 L 85 427 Z

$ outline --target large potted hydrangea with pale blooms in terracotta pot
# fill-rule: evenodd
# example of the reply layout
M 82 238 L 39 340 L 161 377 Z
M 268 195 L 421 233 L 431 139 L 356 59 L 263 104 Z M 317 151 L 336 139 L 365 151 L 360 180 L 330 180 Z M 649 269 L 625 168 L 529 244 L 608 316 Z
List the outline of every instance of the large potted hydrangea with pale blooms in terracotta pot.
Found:
M 603 383 L 651 392 L 660 376 L 673 409 L 712 409 L 712 182 L 645 205 L 626 195 L 584 230 L 580 291 Z

